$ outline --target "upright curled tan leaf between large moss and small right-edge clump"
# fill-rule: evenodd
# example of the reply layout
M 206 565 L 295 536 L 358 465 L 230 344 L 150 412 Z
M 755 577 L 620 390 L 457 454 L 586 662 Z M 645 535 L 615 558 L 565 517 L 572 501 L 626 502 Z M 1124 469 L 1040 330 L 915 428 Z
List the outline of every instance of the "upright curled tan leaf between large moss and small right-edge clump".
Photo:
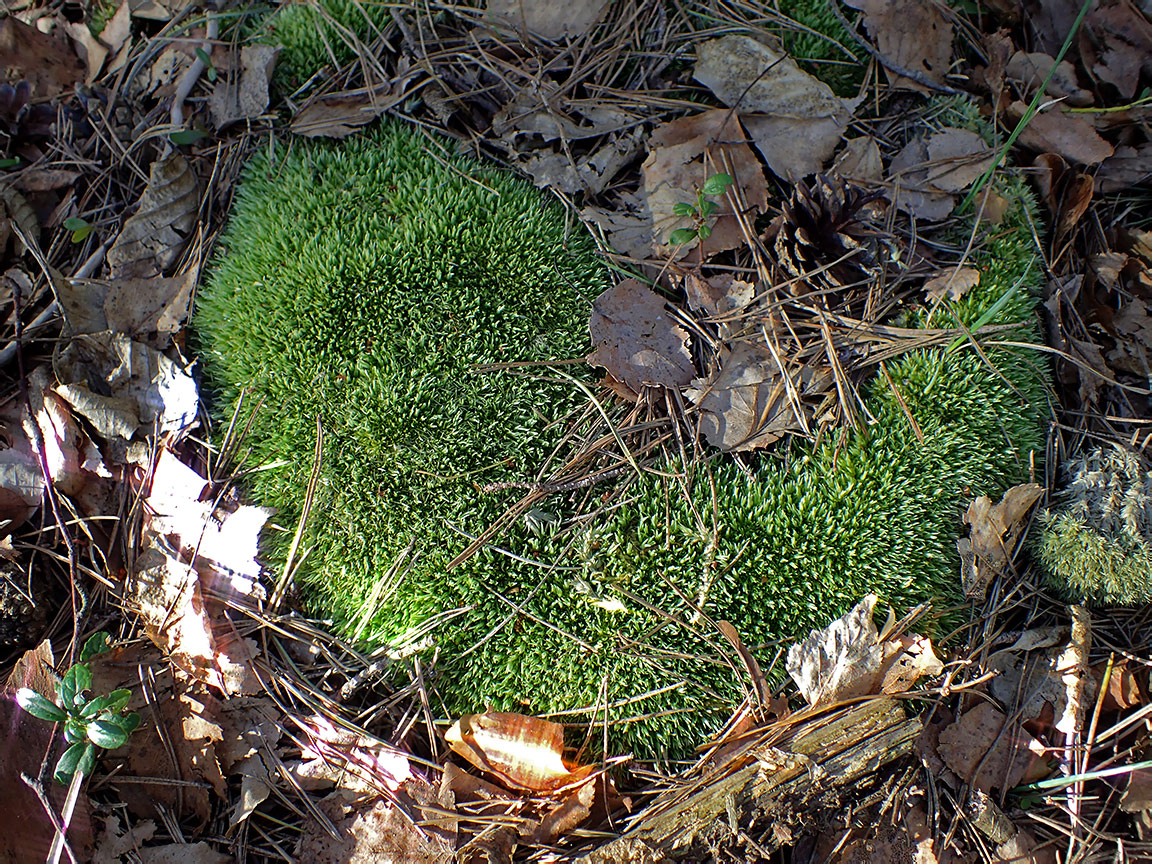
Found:
M 984 597 L 992 579 L 1006 571 L 1024 531 L 1024 517 L 1043 494 L 1041 486 L 1024 483 L 1005 492 L 996 505 L 980 495 L 968 506 L 964 524 L 971 531 L 960 540 L 968 597 Z

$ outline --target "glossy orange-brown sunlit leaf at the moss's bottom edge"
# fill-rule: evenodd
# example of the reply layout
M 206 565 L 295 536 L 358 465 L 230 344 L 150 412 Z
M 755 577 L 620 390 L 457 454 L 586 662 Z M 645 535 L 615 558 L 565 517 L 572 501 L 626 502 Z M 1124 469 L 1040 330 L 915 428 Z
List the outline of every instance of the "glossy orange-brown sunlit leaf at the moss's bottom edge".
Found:
M 501 711 L 464 714 L 445 733 L 453 752 L 517 789 L 555 791 L 584 780 L 594 765 L 564 764 L 564 727 Z

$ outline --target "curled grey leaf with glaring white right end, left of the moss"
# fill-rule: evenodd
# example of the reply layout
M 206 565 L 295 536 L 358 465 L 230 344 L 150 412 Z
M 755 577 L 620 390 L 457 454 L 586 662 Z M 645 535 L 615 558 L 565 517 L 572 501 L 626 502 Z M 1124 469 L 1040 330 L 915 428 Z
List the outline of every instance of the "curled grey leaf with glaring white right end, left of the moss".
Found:
M 59 393 L 106 439 L 196 422 L 196 381 L 174 361 L 109 331 L 75 336 L 55 358 Z

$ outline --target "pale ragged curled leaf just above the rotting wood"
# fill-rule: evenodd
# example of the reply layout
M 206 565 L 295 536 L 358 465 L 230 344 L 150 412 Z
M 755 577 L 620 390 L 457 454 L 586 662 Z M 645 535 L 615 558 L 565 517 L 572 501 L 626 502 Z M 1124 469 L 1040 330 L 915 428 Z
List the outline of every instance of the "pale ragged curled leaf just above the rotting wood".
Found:
M 876 594 L 869 594 L 824 630 L 812 630 L 788 649 L 786 668 L 809 705 L 904 692 L 919 677 L 943 669 L 923 637 L 905 634 L 881 642 L 872 621 L 876 601 Z

